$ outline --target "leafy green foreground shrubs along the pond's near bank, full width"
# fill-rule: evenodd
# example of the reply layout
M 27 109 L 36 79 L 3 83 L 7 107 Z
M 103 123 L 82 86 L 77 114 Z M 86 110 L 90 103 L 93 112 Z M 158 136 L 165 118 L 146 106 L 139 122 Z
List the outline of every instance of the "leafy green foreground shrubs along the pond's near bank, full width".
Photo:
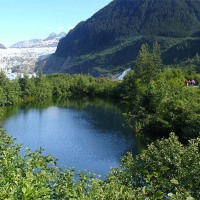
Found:
M 42 150 L 20 156 L 21 146 L 0 130 L 1 199 L 193 199 L 199 198 L 200 139 L 187 147 L 171 135 L 133 159 L 122 158 L 106 180 L 94 174 L 59 169 Z

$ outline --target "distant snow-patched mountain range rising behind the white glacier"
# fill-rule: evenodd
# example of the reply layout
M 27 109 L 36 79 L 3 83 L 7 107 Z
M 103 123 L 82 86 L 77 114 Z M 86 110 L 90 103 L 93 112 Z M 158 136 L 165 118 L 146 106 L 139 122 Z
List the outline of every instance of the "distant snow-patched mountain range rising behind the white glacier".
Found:
M 28 41 L 21 41 L 13 44 L 10 48 L 44 48 L 44 47 L 57 47 L 58 42 L 63 38 L 66 33 L 60 34 L 51 33 L 45 39 L 32 39 Z

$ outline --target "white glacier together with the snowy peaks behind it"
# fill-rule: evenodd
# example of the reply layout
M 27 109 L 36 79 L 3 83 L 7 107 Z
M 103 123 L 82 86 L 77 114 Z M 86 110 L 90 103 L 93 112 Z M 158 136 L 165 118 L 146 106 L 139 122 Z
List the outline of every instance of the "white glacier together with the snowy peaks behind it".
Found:
M 0 70 L 5 73 L 33 73 L 40 62 L 56 51 L 65 33 L 50 34 L 46 39 L 22 41 L 0 49 Z

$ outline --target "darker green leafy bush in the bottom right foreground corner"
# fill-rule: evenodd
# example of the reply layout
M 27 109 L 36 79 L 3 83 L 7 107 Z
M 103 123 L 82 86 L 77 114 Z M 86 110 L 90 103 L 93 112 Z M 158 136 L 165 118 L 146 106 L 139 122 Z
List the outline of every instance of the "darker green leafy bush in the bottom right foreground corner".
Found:
M 118 180 L 142 188 L 141 192 L 154 199 L 163 199 L 163 195 L 186 199 L 179 194 L 199 199 L 199 139 L 184 146 L 173 133 L 169 139 L 150 144 L 136 158 L 127 154 L 122 158 L 122 170 L 115 172 Z

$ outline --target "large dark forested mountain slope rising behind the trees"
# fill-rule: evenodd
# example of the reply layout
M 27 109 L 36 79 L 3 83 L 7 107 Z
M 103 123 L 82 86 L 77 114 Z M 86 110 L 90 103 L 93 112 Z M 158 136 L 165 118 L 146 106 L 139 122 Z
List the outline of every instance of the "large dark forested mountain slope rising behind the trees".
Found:
M 173 47 L 193 39 L 200 39 L 200 0 L 113 0 L 62 38 L 38 69 L 110 75 L 132 67 L 143 43 L 157 41 L 167 63 Z

